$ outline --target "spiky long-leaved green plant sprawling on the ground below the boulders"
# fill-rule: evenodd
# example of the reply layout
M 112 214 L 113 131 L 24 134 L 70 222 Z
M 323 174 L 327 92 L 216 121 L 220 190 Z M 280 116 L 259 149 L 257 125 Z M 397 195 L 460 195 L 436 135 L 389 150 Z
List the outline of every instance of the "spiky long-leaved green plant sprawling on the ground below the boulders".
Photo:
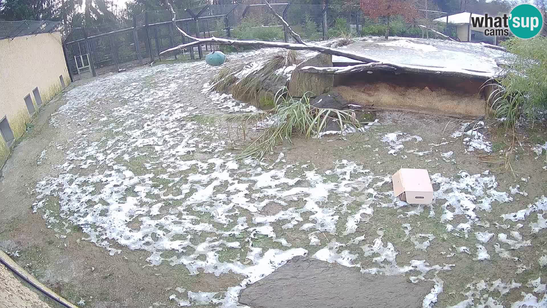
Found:
M 292 143 L 295 136 L 312 138 L 323 132 L 329 121 L 336 121 L 341 130 L 348 127 L 359 129 L 361 126 L 351 110 L 313 107 L 307 93 L 296 99 L 288 95 L 287 88 L 282 88 L 277 91 L 274 104 L 271 110 L 211 115 L 199 121 L 219 128 L 227 126 L 230 140 L 247 142 L 236 159 L 261 158 L 282 142 Z

